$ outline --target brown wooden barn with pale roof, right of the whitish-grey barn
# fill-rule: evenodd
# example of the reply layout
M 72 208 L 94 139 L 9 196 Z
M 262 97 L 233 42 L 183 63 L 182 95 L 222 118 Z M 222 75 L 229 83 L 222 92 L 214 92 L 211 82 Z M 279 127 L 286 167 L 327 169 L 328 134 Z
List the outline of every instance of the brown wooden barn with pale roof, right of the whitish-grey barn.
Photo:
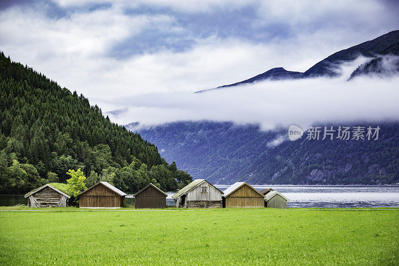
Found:
M 223 208 L 264 207 L 265 197 L 246 182 L 237 182 L 223 191 Z

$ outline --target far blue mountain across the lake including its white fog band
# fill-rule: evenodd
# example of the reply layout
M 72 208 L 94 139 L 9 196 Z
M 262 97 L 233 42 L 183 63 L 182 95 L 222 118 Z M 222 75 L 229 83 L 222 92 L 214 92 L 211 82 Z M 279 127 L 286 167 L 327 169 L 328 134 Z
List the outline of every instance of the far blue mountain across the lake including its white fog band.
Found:
M 217 184 L 396 184 L 397 33 L 334 53 L 304 73 L 274 68 L 202 93 L 142 94 L 119 99 L 129 107 L 109 115 L 122 124 L 134 119 L 126 127 L 168 161 Z M 377 140 L 309 140 L 305 131 L 289 141 L 292 124 L 381 131 Z

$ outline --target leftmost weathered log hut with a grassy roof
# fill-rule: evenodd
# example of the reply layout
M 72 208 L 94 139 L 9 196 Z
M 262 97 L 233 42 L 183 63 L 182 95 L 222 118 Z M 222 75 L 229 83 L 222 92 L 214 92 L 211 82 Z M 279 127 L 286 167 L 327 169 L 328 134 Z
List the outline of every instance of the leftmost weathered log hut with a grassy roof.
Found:
M 70 199 L 68 195 L 54 188 L 50 184 L 46 184 L 25 195 L 28 199 L 28 207 L 66 207 L 67 201 Z

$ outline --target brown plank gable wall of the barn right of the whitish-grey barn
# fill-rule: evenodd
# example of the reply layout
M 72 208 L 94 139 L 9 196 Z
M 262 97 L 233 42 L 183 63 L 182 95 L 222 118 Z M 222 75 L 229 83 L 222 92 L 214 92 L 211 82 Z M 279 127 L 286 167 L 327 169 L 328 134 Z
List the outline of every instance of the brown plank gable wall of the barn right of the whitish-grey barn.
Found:
M 264 207 L 264 197 L 247 185 L 243 185 L 225 198 L 225 207 Z

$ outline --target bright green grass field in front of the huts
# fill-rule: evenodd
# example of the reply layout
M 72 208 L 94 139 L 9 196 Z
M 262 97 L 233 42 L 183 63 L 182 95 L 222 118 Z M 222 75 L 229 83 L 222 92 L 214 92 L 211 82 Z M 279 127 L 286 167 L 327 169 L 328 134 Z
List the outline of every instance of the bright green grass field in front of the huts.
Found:
M 399 210 L 76 210 L 0 212 L 0 264 L 399 265 Z

